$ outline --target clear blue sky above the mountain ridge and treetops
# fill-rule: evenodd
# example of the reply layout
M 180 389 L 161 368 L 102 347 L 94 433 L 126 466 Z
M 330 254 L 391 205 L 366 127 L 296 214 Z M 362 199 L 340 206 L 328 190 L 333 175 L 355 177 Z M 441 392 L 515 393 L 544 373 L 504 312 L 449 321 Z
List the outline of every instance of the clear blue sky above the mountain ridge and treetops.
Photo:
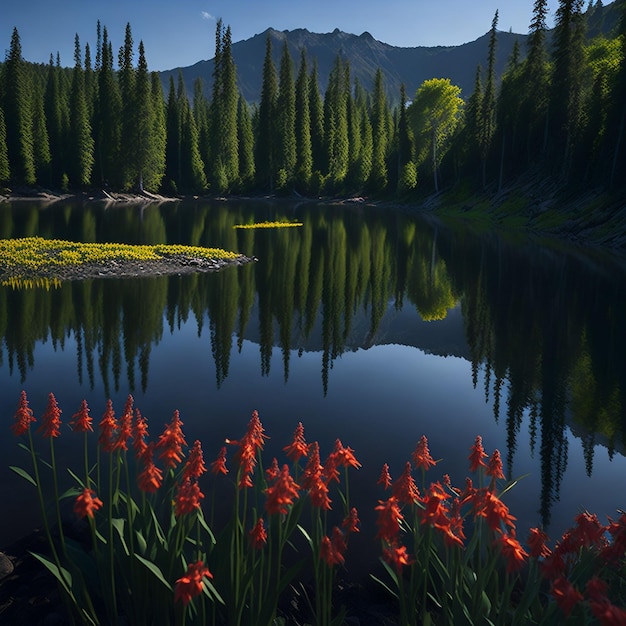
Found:
M 551 26 L 558 1 L 548 6 Z M 435 46 L 480 37 L 496 9 L 500 30 L 526 33 L 532 7 L 533 0 L 0 0 L 0 46 L 4 58 L 17 27 L 26 60 L 47 63 L 50 53 L 59 52 L 61 64 L 72 66 L 76 33 L 83 49 L 89 43 L 93 58 L 98 20 L 115 52 L 130 22 L 136 46 L 144 42 L 150 69 L 166 70 L 212 58 L 219 17 L 235 42 L 271 26 L 369 31 L 391 45 Z

